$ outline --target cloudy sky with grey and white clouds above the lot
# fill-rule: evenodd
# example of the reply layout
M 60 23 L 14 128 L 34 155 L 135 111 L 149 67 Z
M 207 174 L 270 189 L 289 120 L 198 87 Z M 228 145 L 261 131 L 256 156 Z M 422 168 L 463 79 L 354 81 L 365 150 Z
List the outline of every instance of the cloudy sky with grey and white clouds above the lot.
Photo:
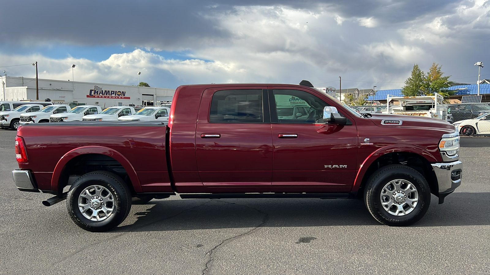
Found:
M 0 72 L 176 88 L 299 83 L 403 86 L 417 63 L 490 78 L 490 0 L 11 0 Z M 15 66 L 23 65 L 23 66 Z M 5 67 L 10 66 L 10 67 Z M 2 74 L 3 75 L 3 74 Z

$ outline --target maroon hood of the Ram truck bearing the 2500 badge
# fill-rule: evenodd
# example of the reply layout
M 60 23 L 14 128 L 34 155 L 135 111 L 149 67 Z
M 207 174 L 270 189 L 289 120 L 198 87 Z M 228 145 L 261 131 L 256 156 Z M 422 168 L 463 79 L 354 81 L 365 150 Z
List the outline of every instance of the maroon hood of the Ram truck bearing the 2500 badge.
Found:
M 441 119 L 423 117 L 417 115 L 384 115 L 372 114 L 369 118 L 379 127 L 414 128 L 414 129 L 433 129 L 445 133 L 454 133 L 456 128 Z

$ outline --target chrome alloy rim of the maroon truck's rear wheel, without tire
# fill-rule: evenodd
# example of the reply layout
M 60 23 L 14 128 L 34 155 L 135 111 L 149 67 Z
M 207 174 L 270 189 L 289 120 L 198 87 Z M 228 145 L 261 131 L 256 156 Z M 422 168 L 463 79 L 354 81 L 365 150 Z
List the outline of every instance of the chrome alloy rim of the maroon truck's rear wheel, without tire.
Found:
M 78 209 L 91 221 L 103 221 L 109 218 L 116 206 L 117 201 L 104 186 L 91 185 L 78 196 Z

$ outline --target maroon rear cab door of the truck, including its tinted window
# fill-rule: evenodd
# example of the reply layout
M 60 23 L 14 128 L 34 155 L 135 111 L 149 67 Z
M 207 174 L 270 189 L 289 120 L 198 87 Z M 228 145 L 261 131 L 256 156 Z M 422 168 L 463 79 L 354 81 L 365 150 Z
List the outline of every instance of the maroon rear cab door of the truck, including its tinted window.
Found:
M 204 185 L 271 185 L 272 137 L 265 88 L 204 91 L 196 127 L 197 170 Z

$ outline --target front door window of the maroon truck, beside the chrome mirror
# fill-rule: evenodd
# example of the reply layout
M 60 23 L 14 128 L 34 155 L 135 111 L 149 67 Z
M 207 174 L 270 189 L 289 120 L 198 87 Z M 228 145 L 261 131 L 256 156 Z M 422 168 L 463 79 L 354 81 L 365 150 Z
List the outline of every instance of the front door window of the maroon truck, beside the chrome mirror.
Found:
M 323 118 L 323 108 L 330 105 L 317 96 L 298 90 L 273 90 L 273 95 L 271 109 L 275 110 L 271 110 L 272 122 L 275 118 L 279 123 L 324 123 L 323 120 L 320 121 Z M 304 108 L 306 112 L 294 114 L 295 106 Z

